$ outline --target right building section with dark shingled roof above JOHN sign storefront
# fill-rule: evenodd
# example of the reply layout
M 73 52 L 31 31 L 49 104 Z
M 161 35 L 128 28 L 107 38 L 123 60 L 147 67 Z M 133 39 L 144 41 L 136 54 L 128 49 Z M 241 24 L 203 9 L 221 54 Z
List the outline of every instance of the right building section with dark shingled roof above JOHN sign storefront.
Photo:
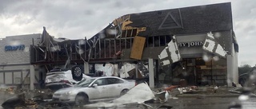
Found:
M 151 83 L 238 84 L 238 43 L 230 2 L 127 14 L 116 21 L 120 19 L 126 19 L 122 33 L 137 29 L 136 35 L 146 38 L 141 60 L 154 60 Z M 122 59 L 129 59 L 131 52 L 124 49 Z M 161 53 L 168 55 L 163 56 L 166 59 L 158 58 Z

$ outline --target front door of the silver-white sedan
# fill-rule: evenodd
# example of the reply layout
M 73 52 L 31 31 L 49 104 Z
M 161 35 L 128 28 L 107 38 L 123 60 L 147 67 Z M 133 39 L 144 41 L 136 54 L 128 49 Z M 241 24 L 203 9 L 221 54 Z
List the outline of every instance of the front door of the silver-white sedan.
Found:
M 95 80 L 93 84 L 98 86 L 90 87 L 91 99 L 104 99 L 108 97 L 105 78 Z

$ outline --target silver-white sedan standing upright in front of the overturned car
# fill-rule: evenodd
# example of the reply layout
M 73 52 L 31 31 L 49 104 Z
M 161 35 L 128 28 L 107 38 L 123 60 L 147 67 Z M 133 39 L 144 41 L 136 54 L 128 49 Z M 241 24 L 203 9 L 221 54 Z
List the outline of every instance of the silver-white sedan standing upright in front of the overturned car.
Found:
M 82 80 L 74 87 L 62 88 L 54 92 L 53 99 L 73 102 L 76 105 L 114 99 L 134 88 L 134 80 L 123 80 L 116 76 L 92 77 Z

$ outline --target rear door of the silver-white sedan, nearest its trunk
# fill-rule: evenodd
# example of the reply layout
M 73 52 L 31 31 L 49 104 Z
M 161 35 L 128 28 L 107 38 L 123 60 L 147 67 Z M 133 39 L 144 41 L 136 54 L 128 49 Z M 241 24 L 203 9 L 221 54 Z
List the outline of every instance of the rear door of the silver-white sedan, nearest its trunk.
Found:
M 107 78 L 106 81 L 107 81 L 107 88 L 109 88 L 109 91 L 107 91 L 108 95 L 110 95 L 110 97 L 119 96 L 123 89 L 124 81 L 118 78 Z

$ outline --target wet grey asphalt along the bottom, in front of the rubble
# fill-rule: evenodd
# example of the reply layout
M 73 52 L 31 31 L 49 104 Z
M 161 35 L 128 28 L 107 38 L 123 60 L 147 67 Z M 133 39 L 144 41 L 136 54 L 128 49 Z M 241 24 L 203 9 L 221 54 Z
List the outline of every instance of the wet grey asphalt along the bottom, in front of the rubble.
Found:
M 211 88 L 210 88 L 211 89 Z M 230 106 L 237 106 L 240 104 L 242 109 L 254 109 L 256 107 L 256 98 L 249 97 L 246 99 L 239 98 L 238 94 L 230 93 L 223 90 L 219 90 L 214 93 L 213 91 L 206 91 L 206 93 L 192 93 L 192 94 L 182 94 L 175 95 L 177 98 L 170 98 L 166 103 L 146 103 L 147 105 L 157 108 L 160 106 L 169 106 L 171 109 L 227 109 Z M 43 91 L 28 91 L 26 92 L 26 99 L 32 98 L 38 93 Z M 2 104 L 6 99 L 14 96 L 12 91 L 0 91 L 0 103 Z M 173 96 L 172 96 L 173 97 Z M 239 98 L 239 99 L 238 99 Z M 70 107 L 71 108 L 71 107 Z M 74 109 L 78 107 L 72 107 Z M 129 104 L 118 106 L 118 109 L 143 109 L 142 105 Z M 0 107 L 2 109 L 2 107 Z M 159 108 L 160 109 L 160 108 Z M 161 109 L 163 109 L 161 107 Z

